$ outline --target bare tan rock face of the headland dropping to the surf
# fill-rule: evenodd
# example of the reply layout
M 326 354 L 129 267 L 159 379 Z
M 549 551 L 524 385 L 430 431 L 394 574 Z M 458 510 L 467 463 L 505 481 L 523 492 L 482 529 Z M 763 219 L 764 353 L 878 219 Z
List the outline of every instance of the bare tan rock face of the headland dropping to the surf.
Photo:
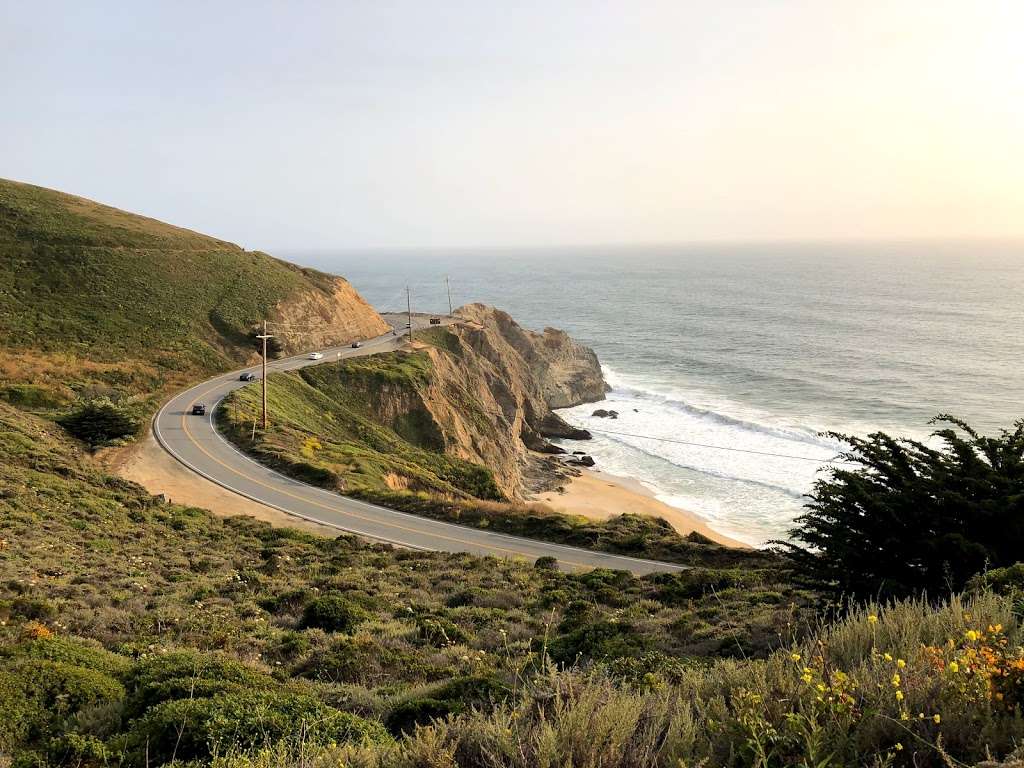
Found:
M 590 437 L 552 408 L 603 397 L 597 355 L 560 331 L 526 331 L 492 307 L 473 304 L 457 315 L 399 353 L 429 358 L 430 375 L 413 390 L 365 383 L 375 417 L 422 447 L 488 467 L 510 499 L 550 487 L 564 469 L 538 454 L 563 452 L 546 438 Z

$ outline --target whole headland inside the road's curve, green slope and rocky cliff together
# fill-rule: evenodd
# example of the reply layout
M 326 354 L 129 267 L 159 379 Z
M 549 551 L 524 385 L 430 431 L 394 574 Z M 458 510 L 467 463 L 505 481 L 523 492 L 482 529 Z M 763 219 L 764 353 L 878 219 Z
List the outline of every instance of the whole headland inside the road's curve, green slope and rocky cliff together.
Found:
M 253 446 L 271 464 L 329 476 L 356 495 L 511 501 L 557 484 L 565 472 L 545 456 L 563 453 L 548 438 L 590 437 L 552 404 L 596 399 L 605 389 L 592 350 L 479 304 L 460 309 L 452 325 L 417 333 L 404 349 L 275 379 L 271 397 L 280 401 L 271 408 L 285 418 Z M 236 396 L 246 413 L 252 393 Z

